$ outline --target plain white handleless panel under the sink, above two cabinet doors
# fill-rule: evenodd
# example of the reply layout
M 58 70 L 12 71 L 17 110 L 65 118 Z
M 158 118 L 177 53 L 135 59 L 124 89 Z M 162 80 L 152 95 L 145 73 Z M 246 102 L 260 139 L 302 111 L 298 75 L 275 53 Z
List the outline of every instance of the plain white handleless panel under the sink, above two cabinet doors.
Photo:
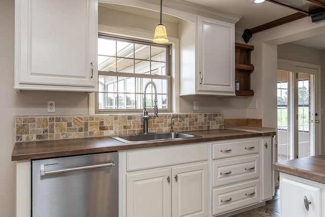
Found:
M 196 161 L 206 161 L 207 159 L 207 143 L 128 151 L 126 153 L 126 170 L 134 171 Z

